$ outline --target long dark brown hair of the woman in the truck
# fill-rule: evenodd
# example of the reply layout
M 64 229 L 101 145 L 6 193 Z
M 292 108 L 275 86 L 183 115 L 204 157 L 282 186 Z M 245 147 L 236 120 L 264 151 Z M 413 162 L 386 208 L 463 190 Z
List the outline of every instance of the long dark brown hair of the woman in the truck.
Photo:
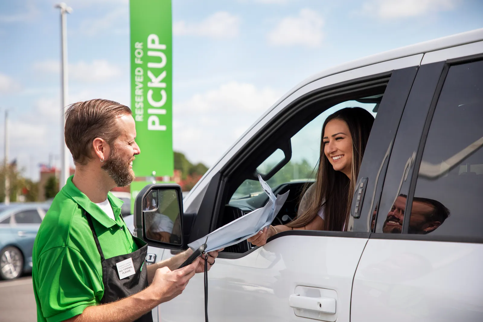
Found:
M 335 171 L 324 153 L 324 140 L 322 138 L 324 137 L 327 123 L 333 119 L 344 121 L 349 128 L 352 138 L 352 171 L 350 179 L 341 171 Z M 355 183 L 359 175 L 359 168 L 373 122 L 374 117 L 361 107 L 343 108 L 327 117 L 320 136 L 319 167 L 315 183 L 313 184 L 314 187 L 310 190 L 310 196 L 306 196 L 308 204 L 304 207 L 305 211 L 303 213 L 287 224 L 288 227 L 298 228 L 311 223 L 317 216 L 319 209 L 324 206 L 324 230 L 341 231 L 343 229 L 344 223 L 349 218 Z M 305 194 L 309 186 L 309 184 L 306 185 L 301 196 Z

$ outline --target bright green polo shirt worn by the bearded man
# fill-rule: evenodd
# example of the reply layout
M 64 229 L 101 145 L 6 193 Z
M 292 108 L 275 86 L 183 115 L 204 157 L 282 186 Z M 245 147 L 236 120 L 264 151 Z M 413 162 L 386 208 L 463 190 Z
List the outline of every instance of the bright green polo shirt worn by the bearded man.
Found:
M 105 258 L 138 249 L 119 216 L 123 202 L 111 192 L 107 198 L 115 221 L 74 186 L 72 176 L 54 198 L 32 253 L 37 321 L 64 321 L 100 303 L 104 293 L 102 266 L 84 210 L 92 217 Z

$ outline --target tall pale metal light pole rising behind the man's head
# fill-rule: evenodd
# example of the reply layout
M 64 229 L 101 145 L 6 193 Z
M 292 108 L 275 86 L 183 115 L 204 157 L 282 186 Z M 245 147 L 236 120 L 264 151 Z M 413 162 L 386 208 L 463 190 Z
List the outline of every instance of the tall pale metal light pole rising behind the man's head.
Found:
M 67 106 L 68 101 L 68 79 L 67 79 L 67 14 L 72 12 L 72 8 L 68 7 L 65 2 L 61 2 L 55 5 L 56 8 L 60 9 L 60 42 L 61 42 L 61 54 L 62 54 L 62 62 L 61 62 L 61 81 L 62 81 L 62 97 L 61 97 L 61 121 L 60 121 L 60 178 L 59 178 L 59 190 L 62 188 L 65 183 L 67 182 L 67 178 L 70 175 L 70 162 L 69 162 L 69 149 L 65 145 L 64 139 L 64 127 L 65 127 L 65 108 Z

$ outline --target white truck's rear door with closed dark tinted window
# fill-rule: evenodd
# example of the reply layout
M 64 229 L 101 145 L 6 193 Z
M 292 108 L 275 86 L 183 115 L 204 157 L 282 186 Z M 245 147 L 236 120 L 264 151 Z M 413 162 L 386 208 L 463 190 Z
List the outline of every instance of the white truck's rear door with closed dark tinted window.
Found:
M 465 46 L 422 61 L 370 209 L 352 322 L 483 321 L 483 60 L 429 59 Z

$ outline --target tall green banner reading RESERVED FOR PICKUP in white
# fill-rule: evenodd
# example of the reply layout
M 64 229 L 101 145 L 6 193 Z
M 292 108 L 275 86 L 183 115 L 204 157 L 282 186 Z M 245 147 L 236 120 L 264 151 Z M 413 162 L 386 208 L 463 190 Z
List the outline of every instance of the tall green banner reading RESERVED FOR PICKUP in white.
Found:
M 172 177 L 171 1 L 131 0 L 129 10 L 131 110 L 141 148 L 132 168 L 142 181 Z

